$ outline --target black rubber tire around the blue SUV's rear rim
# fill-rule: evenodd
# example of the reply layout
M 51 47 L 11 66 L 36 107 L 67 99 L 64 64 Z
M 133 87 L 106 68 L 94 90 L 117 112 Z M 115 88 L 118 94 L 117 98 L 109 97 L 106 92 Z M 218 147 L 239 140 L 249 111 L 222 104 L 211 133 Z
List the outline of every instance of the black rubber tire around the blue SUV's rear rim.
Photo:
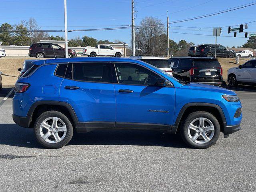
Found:
M 60 141 L 60 142 L 56 142 L 56 143 L 49 143 L 46 142 L 40 135 L 40 125 L 41 123 L 49 117 L 57 117 L 60 118 L 65 124 L 66 124 L 66 136 L 64 136 L 64 138 Z M 66 144 L 68 144 L 68 142 L 70 142 L 72 136 L 73 136 L 73 126 L 70 122 L 70 120 L 61 112 L 58 111 L 46 111 L 44 113 L 42 113 L 36 120 L 36 122 L 34 123 L 34 134 L 36 136 L 36 140 L 44 147 L 46 148 L 52 148 L 52 149 L 56 149 L 56 148 L 62 148 L 63 146 L 65 146 Z

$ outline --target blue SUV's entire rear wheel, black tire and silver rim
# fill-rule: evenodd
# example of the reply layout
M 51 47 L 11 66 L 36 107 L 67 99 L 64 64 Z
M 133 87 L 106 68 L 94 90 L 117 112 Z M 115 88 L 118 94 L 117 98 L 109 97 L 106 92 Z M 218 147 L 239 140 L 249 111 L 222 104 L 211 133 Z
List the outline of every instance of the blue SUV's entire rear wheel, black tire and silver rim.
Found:
M 73 136 L 70 120 L 61 112 L 46 111 L 34 124 L 34 134 L 38 142 L 46 148 L 61 148 Z

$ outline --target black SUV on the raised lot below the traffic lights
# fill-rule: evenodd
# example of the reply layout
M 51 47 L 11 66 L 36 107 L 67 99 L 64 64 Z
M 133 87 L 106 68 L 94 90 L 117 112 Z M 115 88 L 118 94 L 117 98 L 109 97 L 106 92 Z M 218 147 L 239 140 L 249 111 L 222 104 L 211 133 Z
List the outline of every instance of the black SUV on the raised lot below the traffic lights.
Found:
M 204 44 L 199 45 L 196 48 L 196 56 L 198 57 L 214 57 L 215 56 L 215 44 Z M 216 57 L 236 57 L 236 52 L 234 50 L 228 50 L 226 47 L 217 44 Z

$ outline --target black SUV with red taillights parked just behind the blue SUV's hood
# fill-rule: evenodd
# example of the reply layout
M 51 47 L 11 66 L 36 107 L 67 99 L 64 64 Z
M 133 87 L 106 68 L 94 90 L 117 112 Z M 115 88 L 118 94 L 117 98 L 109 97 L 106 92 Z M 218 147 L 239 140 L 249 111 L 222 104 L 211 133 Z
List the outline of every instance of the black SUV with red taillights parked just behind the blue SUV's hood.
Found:
M 222 68 L 213 57 L 173 57 L 168 59 L 172 75 L 181 81 L 222 84 Z

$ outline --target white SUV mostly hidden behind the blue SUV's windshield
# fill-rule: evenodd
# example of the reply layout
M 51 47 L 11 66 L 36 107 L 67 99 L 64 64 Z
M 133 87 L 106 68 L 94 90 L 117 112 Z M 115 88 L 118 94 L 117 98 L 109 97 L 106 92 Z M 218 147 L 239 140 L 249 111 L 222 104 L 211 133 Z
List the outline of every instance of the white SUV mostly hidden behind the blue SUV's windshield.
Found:
M 151 64 L 166 73 L 172 75 L 172 68 L 170 67 L 170 64 L 168 62 L 168 59 L 163 58 L 163 57 L 144 57 L 144 56 L 131 56 L 130 58 L 132 59 L 138 59 L 141 61 L 144 61 L 148 64 Z

